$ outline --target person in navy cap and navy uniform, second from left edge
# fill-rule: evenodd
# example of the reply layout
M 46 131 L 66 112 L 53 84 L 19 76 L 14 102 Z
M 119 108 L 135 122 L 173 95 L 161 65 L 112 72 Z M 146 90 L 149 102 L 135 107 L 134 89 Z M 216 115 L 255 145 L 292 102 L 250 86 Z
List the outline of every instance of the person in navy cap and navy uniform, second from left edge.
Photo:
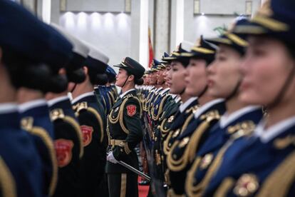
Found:
M 50 26 L 48 29 L 52 31 L 52 34 L 58 34 Z M 68 64 L 73 55 L 72 45 L 64 37 L 58 38 L 56 45 L 58 47 L 55 50 L 48 51 L 49 57 L 43 61 L 43 66 L 31 66 L 31 68 L 21 71 L 21 76 L 26 82 L 20 83 L 17 95 L 21 126 L 33 136 L 36 142 L 38 152 L 43 160 L 43 193 L 49 196 L 53 195 L 56 188 L 58 166 L 53 146 L 55 135 L 45 94 L 48 91 L 60 93 L 66 89 L 66 76 L 59 75 L 58 70 Z M 59 54 L 59 57 L 53 56 L 50 59 L 52 53 Z M 30 81 L 30 79 L 33 80 Z

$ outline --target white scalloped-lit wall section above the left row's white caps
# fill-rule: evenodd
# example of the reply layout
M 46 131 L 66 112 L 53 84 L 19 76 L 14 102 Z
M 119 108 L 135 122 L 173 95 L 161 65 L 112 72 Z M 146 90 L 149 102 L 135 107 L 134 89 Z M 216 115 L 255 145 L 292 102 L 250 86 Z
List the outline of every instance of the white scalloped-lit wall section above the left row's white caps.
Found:
M 61 14 L 59 23 L 103 51 L 110 57 L 110 65 L 130 56 L 130 14 L 66 12 Z

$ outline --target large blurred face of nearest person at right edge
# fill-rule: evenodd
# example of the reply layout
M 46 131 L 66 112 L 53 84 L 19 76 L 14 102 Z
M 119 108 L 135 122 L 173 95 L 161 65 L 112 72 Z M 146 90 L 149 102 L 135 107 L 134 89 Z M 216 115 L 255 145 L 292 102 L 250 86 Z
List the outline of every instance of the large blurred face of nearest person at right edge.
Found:
M 293 66 L 294 58 L 281 41 L 269 37 L 249 37 L 249 47 L 241 66 L 244 78 L 239 98 L 249 104 L 271 104 L 286 83 Z M 294 100 L 295 80 L 289 83 L 282 103 Z

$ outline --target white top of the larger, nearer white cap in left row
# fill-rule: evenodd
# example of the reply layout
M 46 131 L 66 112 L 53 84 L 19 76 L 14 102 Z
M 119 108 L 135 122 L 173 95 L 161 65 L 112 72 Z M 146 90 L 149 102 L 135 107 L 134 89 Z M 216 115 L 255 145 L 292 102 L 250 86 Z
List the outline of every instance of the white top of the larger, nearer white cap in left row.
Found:
M 76 36 L 73 36 L 73 34 L 70 34 L 63 27 L 53 23 L 51 23 L 51 26 L 53 26 L 53 28 L 55 28 L 59 33 L 63 34 L 63 36 L 65 36 L 66 39 L 68 39 L 68 41 L 70 41 L 71 44 L 73 44 L 74 53 L 79 54 L 85 58 L 88 56 L 90 49 L 88 48 L 88 46 L 86 46 L 86 44 L 84 44 Z

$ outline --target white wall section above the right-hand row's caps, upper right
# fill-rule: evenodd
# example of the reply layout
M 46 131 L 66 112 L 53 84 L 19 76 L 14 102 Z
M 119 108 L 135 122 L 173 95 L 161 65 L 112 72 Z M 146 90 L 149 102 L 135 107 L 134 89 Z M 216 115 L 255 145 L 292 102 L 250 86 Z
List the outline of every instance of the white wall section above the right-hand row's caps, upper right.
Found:
M 194 0 L 185 0 L 189 6 L 195 6 Z M 193 14 L 193 9 L 190 9 L 190 14 L 185 14 L 185 40 L 195 43 L 201 35 L 205 37 L 217 36 L 216 27 L 227 26 L 237 17 L 235 14 L 246 13 L 246 1 L 249 0 L 200 0 L 200 13 Z M 252 14 L 254 14 L 261 0 L 252 0 Z M 204 15 L 202 15 L 204 14 Z M 190 21 L 187 24 L 186 21 Z

